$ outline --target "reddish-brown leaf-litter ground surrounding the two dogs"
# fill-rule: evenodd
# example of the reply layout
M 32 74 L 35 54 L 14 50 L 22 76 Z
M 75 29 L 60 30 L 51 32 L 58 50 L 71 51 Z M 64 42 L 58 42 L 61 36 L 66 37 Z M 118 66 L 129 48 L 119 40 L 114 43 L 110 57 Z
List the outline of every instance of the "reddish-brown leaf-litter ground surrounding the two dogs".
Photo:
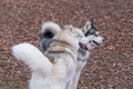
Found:
M 30 78 L 11 46 L 38 46 L 43 21 L 82 27 L 90 18 L 106 41 L 93 49 L 79 89 L 133 89 L 133 0 L 0 0 L 0 89 L 25 89 Z

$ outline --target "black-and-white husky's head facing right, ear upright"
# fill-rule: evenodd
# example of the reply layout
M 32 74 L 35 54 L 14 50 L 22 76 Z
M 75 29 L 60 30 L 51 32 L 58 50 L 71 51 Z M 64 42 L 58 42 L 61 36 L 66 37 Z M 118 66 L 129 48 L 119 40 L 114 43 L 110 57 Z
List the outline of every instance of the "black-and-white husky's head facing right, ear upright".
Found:
M 104 38 L 100 36 L 98 29 L 93 26 L 93 20 L 90 20 L 82 28 L 85 37 L 88 38 L 88 43 L 85 46 L 80 44 L 83 49 L 91 49 L 92 46 L 100 46 L 103 43 Z

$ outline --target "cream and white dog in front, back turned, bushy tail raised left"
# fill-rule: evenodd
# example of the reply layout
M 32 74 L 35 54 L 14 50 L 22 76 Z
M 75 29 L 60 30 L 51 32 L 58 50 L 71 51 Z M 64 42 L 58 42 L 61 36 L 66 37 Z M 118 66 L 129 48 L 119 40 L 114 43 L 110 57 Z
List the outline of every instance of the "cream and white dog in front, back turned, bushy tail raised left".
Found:
M 12 47 L 12 55 L 32 70 L 30 89 L 70 88 L 76 70 L 80 43 L 88 43 L 83 32 L 72 26 L 61 31 L 45 53 L 30 43 Z

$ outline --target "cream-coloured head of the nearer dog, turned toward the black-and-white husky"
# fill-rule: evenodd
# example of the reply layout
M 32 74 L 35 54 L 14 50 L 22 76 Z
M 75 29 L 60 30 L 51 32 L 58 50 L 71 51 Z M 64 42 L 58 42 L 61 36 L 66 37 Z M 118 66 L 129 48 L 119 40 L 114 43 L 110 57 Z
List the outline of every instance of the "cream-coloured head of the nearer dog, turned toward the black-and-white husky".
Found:
M 62 32 L 60 33 L 59 40 L 68 41 L 70 44 L 79 48 L 79 42 L 86 44 L 88 38 L 85 38 L 83 31 L 71 24 L 64 26 Z

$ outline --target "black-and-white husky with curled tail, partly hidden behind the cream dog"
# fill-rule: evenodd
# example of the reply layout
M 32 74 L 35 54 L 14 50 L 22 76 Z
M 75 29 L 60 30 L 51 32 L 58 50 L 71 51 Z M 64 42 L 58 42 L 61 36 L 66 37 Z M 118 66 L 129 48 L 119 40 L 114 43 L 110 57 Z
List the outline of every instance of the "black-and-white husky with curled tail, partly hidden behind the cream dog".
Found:
M 53 29 L 52 29 L 53 28 Z M 58 36 L 58 31 L 61 31 L 61 27 L 54 22 L 45 22 L 42 27 L 42 34 L 39 41 L 39 49 L 44 52 L 49 46 L 55 40 Z M 79 78 L 81 75 L 82 69 L 86 65 L 86 61 L 90 56 L 91 48 L 93 46 L 100 46 L 104 38 L 100 36 L 96 28 L 93 26 L 93 20 L 86 21 L 85 26 L 82 28 L 84 36 L 88 38 L 88 43 L 79 43 L 80 49 L 78 51 L 78 62 L 76 62 L 76 70 L 73 77 L 71 89 L 76 89 Z

